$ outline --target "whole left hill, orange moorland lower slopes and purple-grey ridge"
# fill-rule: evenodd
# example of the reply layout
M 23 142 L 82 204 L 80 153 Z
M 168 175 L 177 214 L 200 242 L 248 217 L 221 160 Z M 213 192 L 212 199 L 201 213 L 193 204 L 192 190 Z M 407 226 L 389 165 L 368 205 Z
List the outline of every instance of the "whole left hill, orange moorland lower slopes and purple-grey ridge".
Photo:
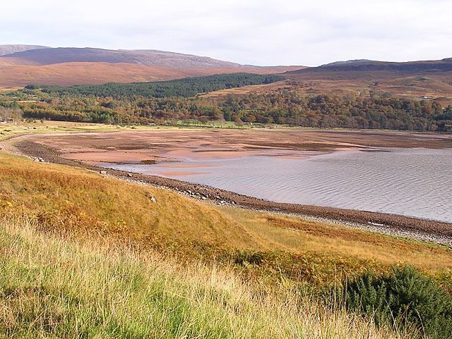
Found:
M 241 65 L 206 56 L 153 49 L 126 51 L 8 46 L 4 47 L 4 55 L 0 56 L 0 90 L 16 89 L 30 83 L 88 85 L 148 82 L 222 73 L 283 73 L 303 67 Z

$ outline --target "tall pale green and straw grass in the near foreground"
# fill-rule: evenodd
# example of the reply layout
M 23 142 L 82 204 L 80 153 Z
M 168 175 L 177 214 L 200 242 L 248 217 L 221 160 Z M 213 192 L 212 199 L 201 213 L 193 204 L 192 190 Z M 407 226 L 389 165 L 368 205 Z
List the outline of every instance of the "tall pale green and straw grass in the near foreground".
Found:
M 26 217 L 0 224 L 1 338 L 412 338 L 290 283 L 256 286 L 227 267 L 44 234 Z

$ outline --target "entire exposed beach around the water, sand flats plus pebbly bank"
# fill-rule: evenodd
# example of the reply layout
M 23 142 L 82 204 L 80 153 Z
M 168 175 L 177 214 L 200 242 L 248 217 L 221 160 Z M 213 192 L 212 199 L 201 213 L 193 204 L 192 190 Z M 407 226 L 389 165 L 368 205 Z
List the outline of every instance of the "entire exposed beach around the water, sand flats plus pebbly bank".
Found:
M 121 142 L 118 142 L 122 140 Z M 78 166 L 93 171 L 101 171 L 106 175 L 113 175 L 123 180 L 131 180 L 157 187 L 166 187 L 196 199 L 220 204 L 237 205 L 243 208 L 264 211 L 277 211 L 280 213 L 297 214 L 350 224 L 351 226 L 365 228 L 393 235 L 406 236 L 419 240 L 432 241 L 452 246 L 452 224 L 439 221 L 429 221 L 393 214 L 356 211 L 350 209 L 337 209 L 330 207 L 317 207 L 301 204 L 275 203 L 254 197 L 239 195 L 234 192 L 219 190 L 215 187 L 186 183 L 181 180 L 162 178 L 160 176 L 128 173 L 114 169 L 100 168 L 89 164 L 98 161 L 96 154 L 114 153 L 111 159 L 121 161 L 115 156 L 117 151 L 130 152 L 140 155 L 134 158 L 143 161 L 142 150 L 147 149 L 150 156 L 162 156 L 168 152 L 189 152 L 189 154 L 208 154 L 208 152 L 192 152 L 199 149 L 213 149 L 218 140 L 218 147 L 224 149 L 237 149 L 237 151 L 223 152 L 221 156 L 230 156 L 234 152 L 253 152 L 258 154 L 263 149 L 274 152 L 275 155 L 287 154 L 291 151 L 305 151 L 311 156 L 312 152 L 333 152 L 335 149 L 369 149 L 369 147 L 452 147 L 450 135 L 426 135 L 421 133 L 405 132 L 352 132 L 352 131 L 155 131 L 155 132 L 114 132 L 114 133 L 84 133 L 72 135 L 28 135 L 9 140 L 6 147 L 9 150 L 26 154 L 31 157 L 40 157 L 44 161 L 56 164 Z M 329 140 L 329 141 L 328 141 Z M 286 142 L 287 141 L 287 142 Z M 73 143 L 72 143 L 73 142 Z M 261 145 L 258 144 L 261 142 Z M 227 144 L 227 147 L 225 147 Z M 250 145 L 254 147 L 250 148 Z M 182 147 L 181 147 L 182 146 Z M 5 147 L 5 146 L 4 146 Z M 85 148 L 84 148 L 85 147 Z M 112 149 L 112 147 L 114 149 Z M 135 149 L 134 149 L 135 147 Z M 137 147 L 140 147 L 137 151 Z M 185 150 L 174 149 L 180 147 Z M 235 147 L 235 148 L 232 148 Z M 188 151 L 187 151 L 188 149 Z M 86 151 L 86 152 L 83 152 Z M 87 153 L 88 152 L 88 153 Z M 254 153 L 257 152 L 257 153 Z M 218 152 L 210 152 L 208 156 L 218 156 Z M 89 154 L 83 159 L 66 159 L 68 154 Z M 215 155 L 214 155 L 215 154 Z M 249 153 L 247 153 L 249 154 Z M 179 153 L 178 153 L 179 155 Z M 72 156 L 76 158 L 76 156 Z M 68 156 L 69 158 L 69 156 Z

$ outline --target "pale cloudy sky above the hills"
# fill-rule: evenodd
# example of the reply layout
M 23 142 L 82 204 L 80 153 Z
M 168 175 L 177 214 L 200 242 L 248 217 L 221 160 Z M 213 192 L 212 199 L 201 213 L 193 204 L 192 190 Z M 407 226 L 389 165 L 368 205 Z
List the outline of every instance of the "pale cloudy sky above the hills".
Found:
M 452 57 L 452 0 L 15 0 L 0 8 L 0 44 L 160 49 L 259 66 Z

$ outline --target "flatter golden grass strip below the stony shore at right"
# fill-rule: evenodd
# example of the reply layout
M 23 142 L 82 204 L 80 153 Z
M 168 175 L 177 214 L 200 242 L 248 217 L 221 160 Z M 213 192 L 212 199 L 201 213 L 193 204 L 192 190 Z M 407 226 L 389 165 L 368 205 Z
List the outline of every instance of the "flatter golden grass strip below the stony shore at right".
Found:
M 452 269 L 452 250 L 445 246 L 297 217 L 231 207 L 216 209 L 244 227 L 262 249 L 276 248 L 292 253 L 311 251 L 384 264 L 405 262 L 432 270 Z

